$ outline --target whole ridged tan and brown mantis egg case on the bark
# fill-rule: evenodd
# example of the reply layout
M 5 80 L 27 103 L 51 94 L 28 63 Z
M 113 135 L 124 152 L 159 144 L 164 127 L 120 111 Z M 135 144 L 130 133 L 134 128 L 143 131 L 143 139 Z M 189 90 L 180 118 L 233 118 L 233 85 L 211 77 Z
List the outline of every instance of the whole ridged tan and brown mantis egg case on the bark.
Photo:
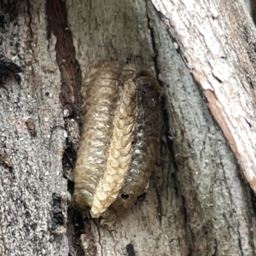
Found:
M 148 188 L 160 150 L 160 86 L 133 64 L 90 67 L 84 127 L 74 170 L 74 207 L 113 223 Z

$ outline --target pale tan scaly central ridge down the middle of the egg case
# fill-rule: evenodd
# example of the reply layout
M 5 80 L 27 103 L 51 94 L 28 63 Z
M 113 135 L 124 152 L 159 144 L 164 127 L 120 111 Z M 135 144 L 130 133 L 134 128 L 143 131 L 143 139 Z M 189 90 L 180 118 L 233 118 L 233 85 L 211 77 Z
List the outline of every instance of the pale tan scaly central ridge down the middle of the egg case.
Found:
M 113 138 L 108 150 L 107 169 L 96 189 L 90 214 L 97 218 L 115 201 L 131 165 L 134 119 L 137 113 L 136 84 L 126 81 L 113 119 Z

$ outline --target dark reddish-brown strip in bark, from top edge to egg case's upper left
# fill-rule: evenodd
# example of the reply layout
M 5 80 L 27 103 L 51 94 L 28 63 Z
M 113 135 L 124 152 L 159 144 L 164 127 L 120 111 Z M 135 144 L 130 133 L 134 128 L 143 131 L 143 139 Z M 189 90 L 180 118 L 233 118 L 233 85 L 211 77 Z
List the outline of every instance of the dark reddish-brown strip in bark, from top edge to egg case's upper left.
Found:
M 51 38 L 51 33 L 57 38 L 55 50 L 56 61 L 61 72 L 61 104 L 70 112 L 75 110 L 79 117 L 82 102 L 80 94 L 82 73 L 75 56 L 73 35 L 68 28 L 65 2 L 47 0 L 46 15 L 48 18 L 47 38 Z

